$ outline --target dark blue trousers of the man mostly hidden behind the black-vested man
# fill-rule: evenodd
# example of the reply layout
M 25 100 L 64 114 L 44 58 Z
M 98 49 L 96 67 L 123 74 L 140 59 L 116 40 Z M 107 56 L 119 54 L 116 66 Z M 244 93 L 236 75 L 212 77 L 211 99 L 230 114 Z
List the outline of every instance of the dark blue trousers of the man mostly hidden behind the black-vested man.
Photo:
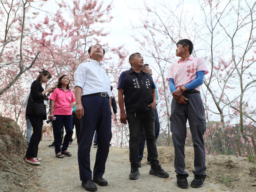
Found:
M 160 132 L 160 123 L 159 123 L 159 117 L 158 117 L 156 108 L 154 113 L 155 113 L 155 140 L 157 140 Z M 143 152 L 144 152 L 145 141 L 146 141 L 145 133 L 142 126 L 141 126 L 140 132 L 141 132 L 141 136 L 139 137 L 139 161 L 141 161 L 143 158 Z M 149 155 L 147 155 L 147 161 L 150 162 Z

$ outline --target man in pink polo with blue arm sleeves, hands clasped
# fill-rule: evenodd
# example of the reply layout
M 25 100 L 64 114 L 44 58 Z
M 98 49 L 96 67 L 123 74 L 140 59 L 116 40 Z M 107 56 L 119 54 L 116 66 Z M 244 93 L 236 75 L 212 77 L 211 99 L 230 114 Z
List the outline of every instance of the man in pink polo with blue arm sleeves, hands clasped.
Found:
M 167 74 L 170 91 L 173 95 L 171 102 L 171 131 L 175 150 L 174 167 L 177 185 L 187 188 L 185 171 L 184 145 L 187 135 L 187 120 L 194 146 L 194 179 L 192 187 L 202 187 L 205 183 L 205 146 L 203 134 L 206 131 L 205 111 L 200 95 L 200 86 L 204 75 L 208 73 L 203 59 L 190 56 L 193 43 L 189 39 L 177 42 L 176 56 L 181 57 L 174 62 Z

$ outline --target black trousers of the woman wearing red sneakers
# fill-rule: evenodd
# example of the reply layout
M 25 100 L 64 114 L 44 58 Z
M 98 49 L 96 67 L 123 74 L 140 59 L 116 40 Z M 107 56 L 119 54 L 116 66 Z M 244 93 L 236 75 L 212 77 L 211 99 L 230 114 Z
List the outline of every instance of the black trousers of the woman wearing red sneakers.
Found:
M 33 128 L 33 134 L 31 135 L 29 146 L 25 157 L 37 157 L 38 145 L 41 139 L 43 116 L 27 115 Z

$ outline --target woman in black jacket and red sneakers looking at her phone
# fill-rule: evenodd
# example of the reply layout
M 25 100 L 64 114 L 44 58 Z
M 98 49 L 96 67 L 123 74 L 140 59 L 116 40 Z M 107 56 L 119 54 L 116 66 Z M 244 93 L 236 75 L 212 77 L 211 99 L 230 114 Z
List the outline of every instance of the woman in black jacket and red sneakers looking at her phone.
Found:
M 39 75 L 37 80 L 35 80 L 31 84 L 30 94 L 34 100 L 34 103 L 45 103 L 48 100 L 49 93 L 53 92 L 54 87 L 47 87 L 45 90 L 42 87 L 42 83 L 46 83 L 50 78 L 51 74 L 49 71 L 41 70 L 39 71 Z M 47 95 L 45 95 L 49 92 Z M 32 101 L 33 102 L 33 101 Z M 40 165 L 40 158 L 37 158 L 38 152 L 38 145 L 40 142 L 41 134 L 42 134 L 42 126 L 43 126 L 43 119 L 46 119 L 45 116 L 36 116 L 33 109 L 31 99 L 29 98 L 27 102 L 27 109 L 26 109 L 26 116 L 29 117 L 33 128 L 33 134 L 31 135 L 29 146 L 27 147 L 26 153 L 26 161 L 31 164 Z M 46 104 L 46 103 L 45 103 Z M 45 109 L 46 110 L 46 109 Z

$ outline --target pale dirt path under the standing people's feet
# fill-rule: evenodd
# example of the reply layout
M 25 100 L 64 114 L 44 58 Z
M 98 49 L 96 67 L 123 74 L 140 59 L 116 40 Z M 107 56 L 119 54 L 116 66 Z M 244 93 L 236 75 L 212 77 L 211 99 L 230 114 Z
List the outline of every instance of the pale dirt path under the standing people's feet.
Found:
M 37 166 L 39 181 L 36 191 L 43 192 L 69 192 L 69 191 L 85 191 L 81 187 L 79 179 L 77 149 L 75 142 L 69 146 L 69 151 L 73 153 L 71 157 L 58 159 L 55 157 L 54 147 L 48 147 L 51 141 L 41 141 L 39 144 L 38 157 L 42 158 L 41 165 Z M 91 148 L 91 169 L 93 169 L 94 158 L 97 148 Z M 139 179 L 129 180 L 130 173 L 129 149 L 110 147 L 109 156 L 106 162 L 106 171 L 103 177 L 108 181 L 107 186 L 98 186 L 98 191 L 134 191 L 134 192 L 150 192 L 150 191 L 185 191 L 176 186 L 176 176 L 174 167 L 170 163 L 162 163 L 164 170 L 169 171 L 170 177 L 163 179 L 153 175 L 149 175 L 150 165 L 145 161 L 142 163 Z M 223 186 L 214 184 L 213 181 L 206 181 L 202 188 L 191 188 L 190 182 L 193 177 L 188 178 L 189 191 L 228 191 Z M 188 190 L 187 190 L 188 191 Z

